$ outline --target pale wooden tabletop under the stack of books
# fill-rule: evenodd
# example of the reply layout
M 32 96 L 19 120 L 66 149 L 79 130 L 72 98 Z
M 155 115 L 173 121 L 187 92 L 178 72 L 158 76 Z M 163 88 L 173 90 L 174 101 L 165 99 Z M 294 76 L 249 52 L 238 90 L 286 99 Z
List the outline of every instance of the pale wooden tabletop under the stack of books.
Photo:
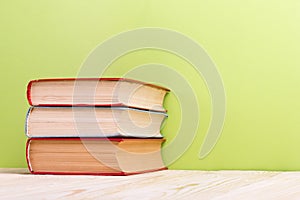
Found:
M 300 172 L 164 170 L 133 176 L 0 169 L 1 199 L 300 199 Z

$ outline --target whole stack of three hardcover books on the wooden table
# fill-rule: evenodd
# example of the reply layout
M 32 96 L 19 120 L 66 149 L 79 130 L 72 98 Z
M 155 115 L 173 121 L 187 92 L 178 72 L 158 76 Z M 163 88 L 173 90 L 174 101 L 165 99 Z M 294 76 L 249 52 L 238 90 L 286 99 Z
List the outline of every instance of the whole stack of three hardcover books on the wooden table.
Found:
M 129 175 L 166 169 L 160 129 L 168 91 L 123 78 L 30 81 L 30 172 Z

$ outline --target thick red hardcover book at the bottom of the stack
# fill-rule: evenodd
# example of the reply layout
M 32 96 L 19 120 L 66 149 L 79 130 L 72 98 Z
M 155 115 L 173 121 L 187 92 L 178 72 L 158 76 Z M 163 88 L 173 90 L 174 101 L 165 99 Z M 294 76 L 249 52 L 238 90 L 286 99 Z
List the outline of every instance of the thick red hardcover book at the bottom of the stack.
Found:
M 167 169 L 164 139 L 31 138 L 26 145 L 33 174 L 131 175 Z

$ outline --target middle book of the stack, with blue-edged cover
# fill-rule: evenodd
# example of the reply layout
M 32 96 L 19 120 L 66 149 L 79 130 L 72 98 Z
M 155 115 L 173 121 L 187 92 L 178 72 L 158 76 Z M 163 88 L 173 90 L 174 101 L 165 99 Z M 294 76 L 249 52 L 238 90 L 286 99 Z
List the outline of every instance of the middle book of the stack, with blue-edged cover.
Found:
M 167 114 L 127 107 L 31 107 L 28 137 L 161 138 Z

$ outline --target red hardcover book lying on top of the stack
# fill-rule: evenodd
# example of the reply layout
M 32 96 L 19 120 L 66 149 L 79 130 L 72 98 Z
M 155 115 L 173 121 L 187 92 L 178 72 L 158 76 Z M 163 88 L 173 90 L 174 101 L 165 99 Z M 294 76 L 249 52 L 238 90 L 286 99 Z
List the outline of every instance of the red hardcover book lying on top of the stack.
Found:
M 57 78 L 32 80 L 27 99 L 33 106 L 126 106 L 165 112 L 169 90 L 126 78 Z

